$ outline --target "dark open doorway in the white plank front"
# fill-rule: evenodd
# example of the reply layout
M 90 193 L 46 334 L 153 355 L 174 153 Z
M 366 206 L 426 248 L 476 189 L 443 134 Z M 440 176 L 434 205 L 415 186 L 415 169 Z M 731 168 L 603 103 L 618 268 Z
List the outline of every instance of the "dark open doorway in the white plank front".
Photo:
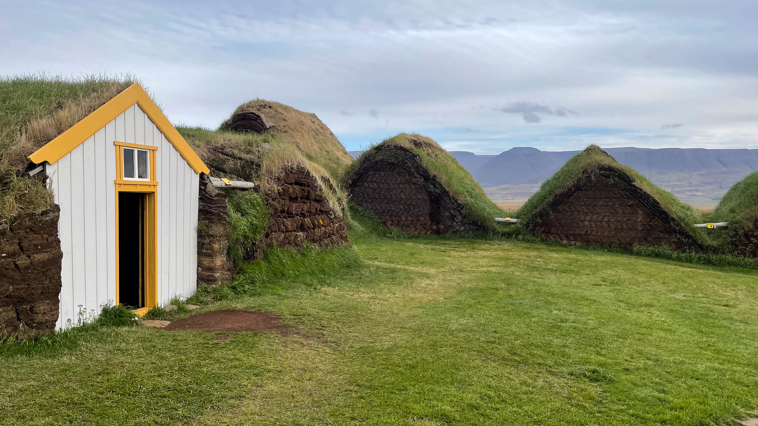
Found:
M 118 193 L 118 302 L 145 306 L 144 193 Z

